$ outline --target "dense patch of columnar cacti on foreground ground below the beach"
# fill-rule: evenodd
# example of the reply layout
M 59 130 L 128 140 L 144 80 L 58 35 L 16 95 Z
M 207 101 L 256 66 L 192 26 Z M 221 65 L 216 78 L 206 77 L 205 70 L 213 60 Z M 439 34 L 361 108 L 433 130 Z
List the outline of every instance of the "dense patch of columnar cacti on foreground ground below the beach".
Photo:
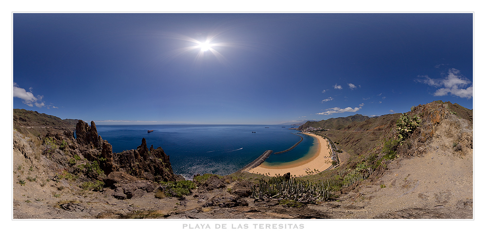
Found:
M 330 198 L 329 183 L 312 183 L 290 178 L 274 177 L 268 181 L 260 179 L 260 183 L 252 187 L 254 199 L 293 200 L 304 203 L 326 201 Z

